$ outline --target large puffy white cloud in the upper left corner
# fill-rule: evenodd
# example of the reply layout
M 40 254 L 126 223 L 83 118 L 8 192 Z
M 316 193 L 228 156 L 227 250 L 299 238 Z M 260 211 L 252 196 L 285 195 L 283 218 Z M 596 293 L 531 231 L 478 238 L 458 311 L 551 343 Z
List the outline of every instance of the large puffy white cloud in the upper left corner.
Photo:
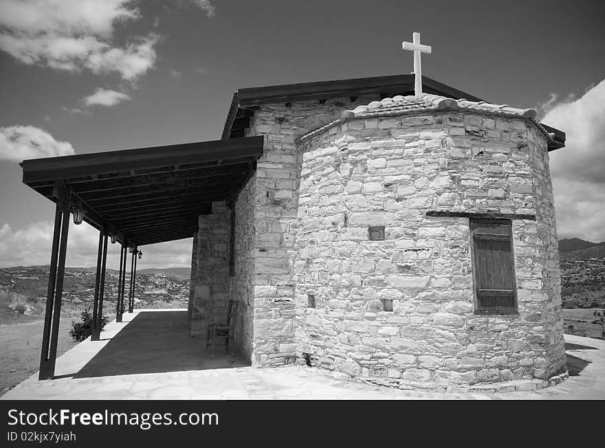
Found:
M 112 43 L 116 23 L 140 19 L 129 0 L 3 0 L 0 49 L 28 65 L 94 74 L 117 72 L 134 82 L 155 65 L 159 36 Z

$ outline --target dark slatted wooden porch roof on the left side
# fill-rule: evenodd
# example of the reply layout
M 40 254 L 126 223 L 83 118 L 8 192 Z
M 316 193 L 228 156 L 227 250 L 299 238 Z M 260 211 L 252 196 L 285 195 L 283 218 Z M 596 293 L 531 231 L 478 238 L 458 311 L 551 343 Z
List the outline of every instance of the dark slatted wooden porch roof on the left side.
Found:
M 29 159 L 23 183 L 56 202 L 72 190 L 84 221 L 142 245 L 190 238 L 213 201 L 232 201 L 256 170 L 263 137 Z

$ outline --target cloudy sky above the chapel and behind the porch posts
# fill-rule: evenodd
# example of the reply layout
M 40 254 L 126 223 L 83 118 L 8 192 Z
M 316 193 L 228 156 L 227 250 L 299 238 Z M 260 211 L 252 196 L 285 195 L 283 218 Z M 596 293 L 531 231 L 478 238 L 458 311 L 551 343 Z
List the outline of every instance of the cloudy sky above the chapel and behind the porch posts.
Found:
M 21 160 L 220 139 L 237 89 L 408 74 L 412 32 L 424 75 L 566 132 L 558 237 L 605 241 L 604 17 L 588 0 L 0 0 L 0 267 L 50 261 L 54 206 Z M 98 232 L 69 232 L 67 265 L 94 266 Z M 191 249 L 145 246 L 139 266 Z

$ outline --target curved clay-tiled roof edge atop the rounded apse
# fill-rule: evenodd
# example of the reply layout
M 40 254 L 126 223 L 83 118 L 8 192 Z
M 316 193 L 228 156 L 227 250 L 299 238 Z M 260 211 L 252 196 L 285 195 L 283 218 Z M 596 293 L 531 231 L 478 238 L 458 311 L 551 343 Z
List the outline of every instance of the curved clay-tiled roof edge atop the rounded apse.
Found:
M 547 137 L 549 150 L 554 150 L 564 146 L 565 134 L 557 129 L 545 126 L 536 120 L 538 113 L 535 109 L 518 109 L 510 107 L 508 104 L 492 104 L 485 101 L 470 101 L 465 98 L 454 99 L 432 93 L 423 93 L 422 96 L 401 96 L 393 98 L 383 98 L 380 101 L 373 101 L 364 106 L 355 107 L 352 111 L 343 111 L 340 120 L 334 120 L 331 123 L 321 126 L 311 131 L 300 139 L 307 139 L 318 135 L 328 128 L 346 120 L 347 118 L 362 117 L 380 117 L 388 115 L 399 115 L 401 113 L 413 113 L 419 111 L 438 111 L 438 110 L 459 110 L 488 113 L 502 117 L 520 117 L 527 119 L 538 127 L 538 129 Z

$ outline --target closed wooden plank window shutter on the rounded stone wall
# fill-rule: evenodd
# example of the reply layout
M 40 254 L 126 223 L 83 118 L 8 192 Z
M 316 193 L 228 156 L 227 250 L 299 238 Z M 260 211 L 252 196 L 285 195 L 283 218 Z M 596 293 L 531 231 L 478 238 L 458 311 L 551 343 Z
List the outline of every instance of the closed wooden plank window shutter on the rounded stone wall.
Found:
M 507 219 L 471 219 L 475 314 L 516 314 L 512 225 Z

